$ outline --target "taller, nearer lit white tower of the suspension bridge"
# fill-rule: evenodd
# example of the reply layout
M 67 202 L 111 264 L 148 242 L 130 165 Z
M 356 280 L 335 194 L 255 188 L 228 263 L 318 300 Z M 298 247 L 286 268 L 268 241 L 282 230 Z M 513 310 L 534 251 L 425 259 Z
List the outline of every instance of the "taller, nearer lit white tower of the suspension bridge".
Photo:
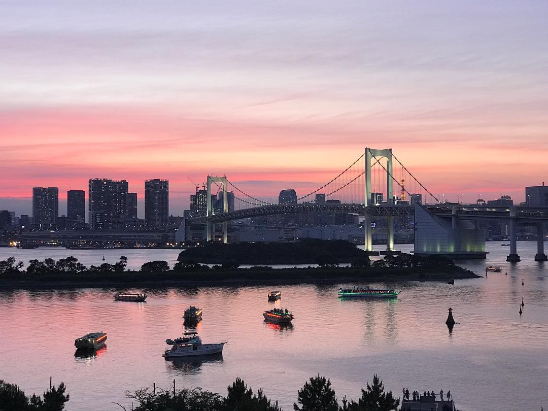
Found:
M 371 167 L 376 164 L 376 159 L 386 158 L 386 200 L 389 204 L 394 203 L 393 197 L 393 182 L 392 182 L 392 149 L 369 149 L 366 147 L 366 206 L 374 206 L 369 204 L 371 199 Z M 372 160 L 374 164 L 372 164 Z M 366 250 L 373 251 L 372 228 L 369 213 L 366 214 Z M 386 244 L 387 251 L 394 249 L 394 218 L 388 217 L 388 243 Z

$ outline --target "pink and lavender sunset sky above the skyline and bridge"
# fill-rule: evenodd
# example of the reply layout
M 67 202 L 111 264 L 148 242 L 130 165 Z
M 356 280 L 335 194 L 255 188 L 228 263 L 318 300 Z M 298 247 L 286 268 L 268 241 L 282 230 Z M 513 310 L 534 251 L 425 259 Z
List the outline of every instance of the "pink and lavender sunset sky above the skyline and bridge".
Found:
M 465 201 L 548 181 L 548 2 L 0 3 L 0 209 L 226 174 L 312 191 L 392 147 Z M 86 195 L 87 196 L 87 195 Z M 62 201 L 61 201 L 62 203 Z M 60 205 L 60 214 L 66 206 Z M 142 207 L 141 212 L 142 215 Z

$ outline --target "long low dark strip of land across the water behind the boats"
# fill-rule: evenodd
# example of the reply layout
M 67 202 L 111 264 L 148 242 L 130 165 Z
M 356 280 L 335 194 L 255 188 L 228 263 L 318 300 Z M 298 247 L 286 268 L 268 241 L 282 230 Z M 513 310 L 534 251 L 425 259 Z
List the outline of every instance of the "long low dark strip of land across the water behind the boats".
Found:
M 93 275 L 53 273 L 33 278 L 18 279 L 12 277 L 0 279 L 0 290 L 81 288 L 161 289 L 170 287 L 239 287 L 269 284 L 283 286 L 344 282 L 447 282 L 452 277 L 455 280 L 483 278 L 471 271 L 460 269 L 460 267 L 452 271 L 442 273 L 419 270 L 410 271 L 409 269 L 353 269 L 351 267 L 339 267 L 335 269 L 236 269 L 219 272 L 165 271 L 142 273 L 139 271 L 125 271 L 122 273 L 94 273 Z

